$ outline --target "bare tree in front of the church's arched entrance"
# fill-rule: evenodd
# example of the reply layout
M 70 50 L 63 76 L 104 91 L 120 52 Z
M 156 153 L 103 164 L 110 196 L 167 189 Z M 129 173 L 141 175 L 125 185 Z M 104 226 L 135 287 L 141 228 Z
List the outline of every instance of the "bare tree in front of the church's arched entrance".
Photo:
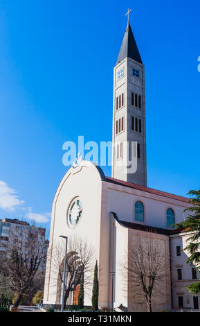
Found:
M 51 259 L 51 264 L 54 267 L 52 280 L 54 280 L 57 293 L 61 293 L 63 286 L 64 255 L 64 242 L 57 243 L 53 248 Z M 93 250 L 87 241 L 79 237 L 71 237 L 68 241 L 68 253 L 66 256 L 64 307 L 66 307 L 69 294 L 75 291 L 82 277 L 84 277 L 84 289 L 87 291 L 87 286 L 92 283 L 93 266 Z

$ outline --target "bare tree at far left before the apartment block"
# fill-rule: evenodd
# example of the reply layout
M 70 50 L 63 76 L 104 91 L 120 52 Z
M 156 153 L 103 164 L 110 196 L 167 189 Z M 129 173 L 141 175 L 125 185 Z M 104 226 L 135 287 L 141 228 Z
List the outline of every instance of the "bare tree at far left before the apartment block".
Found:
M 1 257 L 1 273 L 6 276 L 6 289 L 15 293 L 15 307 L 24 295 L 34 294 L 44 284 L 39 267 L 44 261 L 45 231 L 24 225 L 23 232 L 20 225 L 10 232 L 7 250 Z

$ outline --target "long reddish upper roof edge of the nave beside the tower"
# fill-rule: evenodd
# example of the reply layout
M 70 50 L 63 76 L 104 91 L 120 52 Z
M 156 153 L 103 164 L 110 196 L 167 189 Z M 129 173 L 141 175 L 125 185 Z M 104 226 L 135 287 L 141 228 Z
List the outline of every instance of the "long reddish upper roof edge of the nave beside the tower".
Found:
M 161 191 L 161 190 L 156 190 L 156 189 L 136 185 L 136 184 L 131 183 L 131 182 L 122 181 L 122 180 L 118 180 L 118 179 L 110 178 L 110 177 L 106 177 L 105 181 L 114 183 L 116 185 L 129 187 L 129 188 L 132 188 L 132 189 L 145 191 L 145 192 L 148 192 L 149 194 L 155 194 L 155 195 L 158 195 L 158 196 L 164 196 L 164 197 L 175 199 L 175 200 L 181 200 L 181 201 L 183 201 L 185 203 L 190 203 L 190 198 L 170 194 L 168 192 Z

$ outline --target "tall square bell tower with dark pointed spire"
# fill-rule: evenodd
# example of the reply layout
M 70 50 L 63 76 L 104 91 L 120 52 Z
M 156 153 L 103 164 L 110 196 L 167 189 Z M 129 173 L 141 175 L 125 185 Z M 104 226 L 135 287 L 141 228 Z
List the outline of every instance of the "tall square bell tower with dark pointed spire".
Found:
M 147 186 L 145 128 L 145 67 L 128 19 L 113 69 L 113 178 Z

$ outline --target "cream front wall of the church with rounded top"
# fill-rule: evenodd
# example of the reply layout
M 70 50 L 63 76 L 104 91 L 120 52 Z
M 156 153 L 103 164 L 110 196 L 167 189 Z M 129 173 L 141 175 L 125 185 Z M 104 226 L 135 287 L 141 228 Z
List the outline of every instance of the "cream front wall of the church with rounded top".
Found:
M 67 211 L 71 200 L 76 196 L 82 202 L 82 218 L 74 229 L 67 224 Z M 81 237 L 87 241 L 93 250 L 93 267 L 99 257 L 100 250 L 100 207 L 101 207 L 101 178 L 98 169 L 91 162 L 82 161 L 76 169 L 69 169 L 55 194 L 53 200 L 51 237 L 48 251 L 48 266 L 46 268 L 46 282 L 44 303 L 56 303 L 56 288 L 52 262 L 53 250 L 56 243 L 62 241 L 59 237 Z M 50 265 L 50 266 L 49 266 Z M 91 284 L 92 289 L 92 284 Z M 91 289 L 85 293 L 84 304 L 91 305 Z M 57 302 L 58 303 L 58 302 Z

